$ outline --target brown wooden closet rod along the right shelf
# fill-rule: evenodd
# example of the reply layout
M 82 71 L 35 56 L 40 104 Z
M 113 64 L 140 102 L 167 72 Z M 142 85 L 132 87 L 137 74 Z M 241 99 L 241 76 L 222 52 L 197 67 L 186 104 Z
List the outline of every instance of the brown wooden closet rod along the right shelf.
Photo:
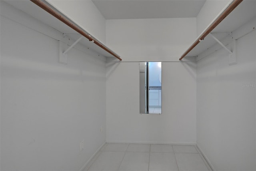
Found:
M 197 44 L 199 44 L 199 42 L 201 40 L 204 40 L 204 38 L 210 33 L 212 32 L 212 30 L 218 26 L 218 24 L 220 24 L 220 22 L 222 22 L 222 20 L 224 20 L 224 18 L 226 18 L 226 16 L 228 16 L 228 14 L 230 14 L 230 12 L 232 12 L 243 0 L 234 0 L 227 8 L 226 10 L 224 10 L 222 12 L 222 14 L 220 14 L 220 16 L 218 16 L 218 18 L 216 18 L 216 20 L 202 33 L 202 35 L 196 40 L 196 42 L 194 42 L 190 48 L 188 48 L 188 50 L 181 56 L 181 58 L 179 60 L 182 60 L 182 58 L 184 58 L 194 47 L 196 47 Z

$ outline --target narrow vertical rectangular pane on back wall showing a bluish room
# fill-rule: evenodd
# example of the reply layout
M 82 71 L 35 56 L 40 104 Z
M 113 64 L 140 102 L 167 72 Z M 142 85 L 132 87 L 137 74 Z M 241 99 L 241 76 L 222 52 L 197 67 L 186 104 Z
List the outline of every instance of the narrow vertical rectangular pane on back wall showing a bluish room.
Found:
M 140 113 L 162 113 L 162 62 L 140 62 Z

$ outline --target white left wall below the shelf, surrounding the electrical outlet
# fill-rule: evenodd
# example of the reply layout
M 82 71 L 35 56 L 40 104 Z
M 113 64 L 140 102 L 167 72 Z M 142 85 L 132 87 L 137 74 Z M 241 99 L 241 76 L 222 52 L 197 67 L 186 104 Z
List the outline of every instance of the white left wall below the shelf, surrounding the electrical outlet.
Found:
M 104 60 L 72 48 L 59 64 L 57 40 L 2 9 L 0 29 L 1 171 L 79 171 L 106 141 Z

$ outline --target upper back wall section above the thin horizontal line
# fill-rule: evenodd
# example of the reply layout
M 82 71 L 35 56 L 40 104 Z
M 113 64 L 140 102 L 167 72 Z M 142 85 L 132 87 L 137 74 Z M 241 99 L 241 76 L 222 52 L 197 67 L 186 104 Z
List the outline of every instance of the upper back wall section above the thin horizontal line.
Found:
M 106 20 L 106 44 L 123 61 L 179 61 L 196 39 L 196 18 Z

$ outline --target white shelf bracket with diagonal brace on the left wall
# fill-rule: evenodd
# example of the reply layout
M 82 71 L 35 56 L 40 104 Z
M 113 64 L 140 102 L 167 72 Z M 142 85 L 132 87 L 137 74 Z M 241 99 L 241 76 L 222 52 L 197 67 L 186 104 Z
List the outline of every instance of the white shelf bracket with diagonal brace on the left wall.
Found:
M 76 42 L 74 42 L 69 48 L 68 44 L 59 41 L 59 62 L 61 64 L 68 64 L 68 51 L 73 48 L 84 36 L 81 36 Z M 66 49 L 66 50 L 65 50 Z M 65 50 L 65 51 L 64 51 Z M 63 52 L 64 51 L 64 52 Z

